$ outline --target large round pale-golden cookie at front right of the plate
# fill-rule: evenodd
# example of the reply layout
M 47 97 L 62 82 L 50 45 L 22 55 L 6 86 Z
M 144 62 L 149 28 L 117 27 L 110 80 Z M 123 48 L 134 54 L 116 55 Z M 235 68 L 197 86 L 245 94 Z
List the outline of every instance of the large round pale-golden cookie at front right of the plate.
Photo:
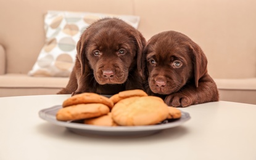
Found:
M 120 126 L 157 124 L 168 116 L 168 106 L 159 97 L 130 97 L 112 108 L 112 118 Z

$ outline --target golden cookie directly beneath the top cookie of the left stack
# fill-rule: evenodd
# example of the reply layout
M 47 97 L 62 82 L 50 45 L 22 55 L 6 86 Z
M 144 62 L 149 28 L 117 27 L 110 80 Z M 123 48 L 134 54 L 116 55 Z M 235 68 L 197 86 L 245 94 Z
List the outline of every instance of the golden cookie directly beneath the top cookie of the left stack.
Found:
M 59 121 L 72 121 L 78 119 L 94 118 L 109 113 L 109 106 L 101 103 L 88 103 L 60 108 L 56 114 Z

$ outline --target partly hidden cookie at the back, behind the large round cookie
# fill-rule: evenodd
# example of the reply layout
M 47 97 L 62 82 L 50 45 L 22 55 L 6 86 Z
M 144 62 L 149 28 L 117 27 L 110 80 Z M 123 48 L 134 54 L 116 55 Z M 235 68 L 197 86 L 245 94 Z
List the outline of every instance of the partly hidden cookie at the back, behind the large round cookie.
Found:
M 112 100 L 112 102 L 114 102 L 115 104 L 122 99 L 125 99 L 128 97 L 134 97 L 134 96 L 143 97 L 143 96 L 147 96 L 147 94 L 141 89 L 125 90 L 125 91 L 119 92 L 118 94 L 112 95 L 112 97 L 110 97 L 109 99 Z

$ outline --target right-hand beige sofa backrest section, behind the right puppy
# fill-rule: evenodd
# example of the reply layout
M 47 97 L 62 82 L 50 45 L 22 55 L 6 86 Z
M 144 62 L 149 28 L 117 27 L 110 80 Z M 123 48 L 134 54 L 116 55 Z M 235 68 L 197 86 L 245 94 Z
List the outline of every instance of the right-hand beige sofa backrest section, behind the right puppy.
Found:
M 202 47 L 214 78 L 256 77 L 256 1 L 136 0 L 136 4 L 139 29 L 146 38 L 160 31 L 180 31 Z

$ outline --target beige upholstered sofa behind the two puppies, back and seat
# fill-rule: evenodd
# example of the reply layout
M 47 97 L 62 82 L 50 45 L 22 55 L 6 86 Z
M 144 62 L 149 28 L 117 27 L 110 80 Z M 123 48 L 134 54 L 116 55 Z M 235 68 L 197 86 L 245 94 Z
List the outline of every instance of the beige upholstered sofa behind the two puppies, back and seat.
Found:
M 47 10 L 140 17 L 146 39 L 180 31 L 207 55 L 220 100 L 256 104 L 256 1 L 44 0 L 0 2 L 0 97 L 56 94 L 68 78 L 28 76 L 44 45 Z

